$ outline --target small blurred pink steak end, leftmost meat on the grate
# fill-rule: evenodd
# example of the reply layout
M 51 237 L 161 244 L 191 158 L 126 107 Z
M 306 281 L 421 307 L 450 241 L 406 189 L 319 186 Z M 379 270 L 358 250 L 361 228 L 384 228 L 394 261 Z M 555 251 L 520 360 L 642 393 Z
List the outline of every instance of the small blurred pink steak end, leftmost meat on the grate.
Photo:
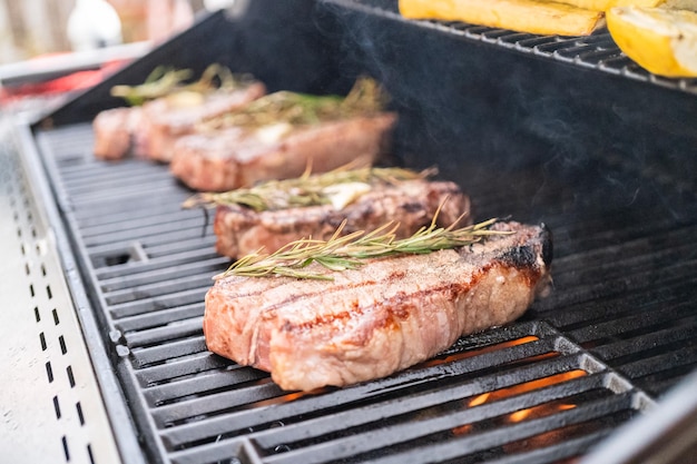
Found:
M 143 121 L 139 107 L 107 109 L 92 121 L 94 152 L 100 159 L 120 159 L 130 154 L 136 144 L 136 132 Z

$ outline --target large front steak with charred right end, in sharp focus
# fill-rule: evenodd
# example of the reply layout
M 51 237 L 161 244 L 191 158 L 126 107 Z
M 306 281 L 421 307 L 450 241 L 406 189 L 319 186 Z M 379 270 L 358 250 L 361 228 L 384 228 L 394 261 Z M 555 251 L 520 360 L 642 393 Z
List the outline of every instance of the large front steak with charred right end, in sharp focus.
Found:
M 219 278 L 206 294 L 208 349 L 302 391 L 380 378 L 425 361 L 462 335 L 518 318 L 549 292 L 549 230 L 494 227 L 513 234 L 344 272 L 311 265 L 332 282 Z

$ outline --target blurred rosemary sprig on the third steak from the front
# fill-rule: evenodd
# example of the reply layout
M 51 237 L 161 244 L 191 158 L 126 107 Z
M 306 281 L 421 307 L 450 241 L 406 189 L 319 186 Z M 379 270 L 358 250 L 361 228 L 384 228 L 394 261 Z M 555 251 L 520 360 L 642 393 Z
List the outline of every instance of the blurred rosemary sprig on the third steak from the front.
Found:
M 282 90 L 258 98 L 239 110 L 212 118 L 202 129 L 233 126 L 258 128 L 272 124 L 311 125 L 374 113 L 382 110 L 386 100 L 386 95 L 374 79 L 360 78 L 345 98 Z

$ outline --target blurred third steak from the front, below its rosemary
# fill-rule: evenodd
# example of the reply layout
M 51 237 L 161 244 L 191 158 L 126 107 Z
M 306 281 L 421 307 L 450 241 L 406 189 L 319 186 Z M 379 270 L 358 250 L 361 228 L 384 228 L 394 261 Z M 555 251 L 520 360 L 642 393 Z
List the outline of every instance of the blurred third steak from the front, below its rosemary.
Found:
M 175 145 L 171 172 L 196 190 L 225 191 L 259 180 L 324 172 L 352 162 L 370 166 L 396 121 L 391 112 L 257 129 L 233 127 L 184 137 Z

